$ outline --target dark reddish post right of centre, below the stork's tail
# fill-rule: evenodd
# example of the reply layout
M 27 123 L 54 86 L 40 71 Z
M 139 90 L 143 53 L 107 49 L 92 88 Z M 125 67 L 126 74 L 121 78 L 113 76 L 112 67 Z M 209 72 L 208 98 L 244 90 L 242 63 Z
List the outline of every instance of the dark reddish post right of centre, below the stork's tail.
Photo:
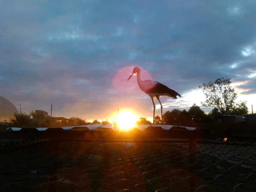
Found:
M 189 153 L 189 163 L 190 165 L 196 163 L 196 139 L 191 138 L 188 139 L 188 153 Z M 194 166 L 190 167 L 193 168 Z M 197 188 L 197 176 L 196 174 L 191 171 L 191 178 L 190 178 L 190 191 L 194 191 Z

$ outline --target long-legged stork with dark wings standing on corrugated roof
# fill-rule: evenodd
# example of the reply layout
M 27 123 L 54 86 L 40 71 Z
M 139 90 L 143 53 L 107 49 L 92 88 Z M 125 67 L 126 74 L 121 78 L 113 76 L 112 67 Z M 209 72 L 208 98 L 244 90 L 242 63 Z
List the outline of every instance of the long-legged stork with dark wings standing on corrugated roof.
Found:
M 155 109 L 156 105 L 154 103 L 154 98 L 157 98 L 161 105 L 161 118 L 162 118 L 162 124 L 163 124 L 163 106 L 160 102 L 159 97 L 160 96 L 167 96 L 172 97 L 172 99 L 177 99 L 177 96 L 180 96 L 179 93 L 177 93 L 175 90 L 170 89 L 169 87 L 152 80 L 141 80 L 141 69 L 139 67 L 133 68 L 132 74 L 127 79 L 127 81 L 137 73 L 137 82 L 139 84 L 139 88 L 141 88 L 142 91 L 144 91 L 146 94 L 150 96 L 153 102 L 154 106 L 154 116 L 153 116 L 153 124 L 155 123 Z

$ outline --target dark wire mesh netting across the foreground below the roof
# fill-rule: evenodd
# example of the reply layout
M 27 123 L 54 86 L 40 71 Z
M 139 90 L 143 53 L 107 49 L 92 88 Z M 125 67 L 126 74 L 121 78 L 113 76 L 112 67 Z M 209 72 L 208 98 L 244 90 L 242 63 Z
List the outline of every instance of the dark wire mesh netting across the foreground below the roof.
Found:
M 0 157 L 0 191 L 256 191 L 256 145 L 62 142 Z M 53 152 L 49 152 L 53 151 Z

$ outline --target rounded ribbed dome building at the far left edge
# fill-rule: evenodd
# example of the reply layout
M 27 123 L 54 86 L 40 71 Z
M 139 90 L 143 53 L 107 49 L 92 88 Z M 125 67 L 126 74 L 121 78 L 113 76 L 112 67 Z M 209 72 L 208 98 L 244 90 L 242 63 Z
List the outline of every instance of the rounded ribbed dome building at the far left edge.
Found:
M 13 114 L 18 113 L 16 107 L 8 99 L 0 96 L 0 123 L 9 123 Z

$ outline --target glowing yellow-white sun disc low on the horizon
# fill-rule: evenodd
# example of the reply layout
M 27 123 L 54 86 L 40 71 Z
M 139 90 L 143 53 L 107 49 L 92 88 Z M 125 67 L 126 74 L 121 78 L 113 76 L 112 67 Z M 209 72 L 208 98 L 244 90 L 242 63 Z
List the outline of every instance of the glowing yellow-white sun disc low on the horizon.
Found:
M 129 130 L 135 127 L 138 117 L 131 111 L 121 111 L 117 116 L 117 125 L 120 130 Z

